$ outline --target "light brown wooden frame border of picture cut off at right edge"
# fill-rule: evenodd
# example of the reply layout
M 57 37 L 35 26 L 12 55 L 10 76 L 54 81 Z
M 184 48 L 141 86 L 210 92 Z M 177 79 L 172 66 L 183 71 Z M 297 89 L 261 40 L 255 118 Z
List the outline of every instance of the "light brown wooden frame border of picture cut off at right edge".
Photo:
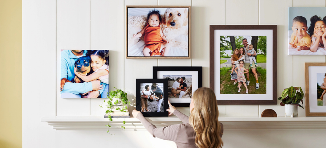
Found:
M 310 112 L 309 101 L 309 67 L 310 66 L 323 66 L 326 67 L 326 63 L 304 63 L 304 80 L 305 80 L 305 110 L 306 116 L 326 116 L 326 112 Z M 316 92 L 314 92 L 316 93 Z

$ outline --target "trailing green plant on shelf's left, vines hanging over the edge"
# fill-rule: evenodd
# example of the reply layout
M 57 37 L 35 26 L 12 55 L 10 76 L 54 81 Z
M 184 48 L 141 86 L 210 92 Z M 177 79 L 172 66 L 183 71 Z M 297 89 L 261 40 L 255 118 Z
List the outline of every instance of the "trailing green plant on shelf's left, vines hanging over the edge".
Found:
M 117 89 L 117 88 L 115 88 L 115 89 L 116 90 L 110 91 L 108 93 L 108 98 L 105 98 L 103 100 L 102 104 L 100 105 L 100 107 L 103 108 L 102 107 L 103 103 L 108 104 L 108 106 L 107 106 L 108 110 L 105 111 L 105 113 L 108 114 L 108 119 L 109 119 L 109 123 L 107 125 L 105 125 L 108 127 L 108 130 L 106 131 L 107 133 L 110 133 L 109 127 L 111 127 L 110 121 L 112 121 L 111 116 L 113 116 L 113 115 L 123 116 L 124 120 L 122 122 L 123 126 L 121 126 L 121 128 L 126 129 L 125 115 L 129 109 L 130 101 L 128 101 L 127 93 L 125 92 L 125 89 Z

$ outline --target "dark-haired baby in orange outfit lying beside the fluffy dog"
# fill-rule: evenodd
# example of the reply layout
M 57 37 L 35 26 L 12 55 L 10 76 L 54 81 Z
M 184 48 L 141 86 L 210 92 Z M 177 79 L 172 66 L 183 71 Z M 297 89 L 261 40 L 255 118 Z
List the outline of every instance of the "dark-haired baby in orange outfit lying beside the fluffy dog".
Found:
M 162 21 L 160 11 L 152 10 L 147 15 L 147 26 L 141 32 L 134 34 L 134 37 L 144 35 L 146 46 L 143 49 L 144 56 L 162 55 L 167 56 L 170 44 L 164 36 L 160 22 Z

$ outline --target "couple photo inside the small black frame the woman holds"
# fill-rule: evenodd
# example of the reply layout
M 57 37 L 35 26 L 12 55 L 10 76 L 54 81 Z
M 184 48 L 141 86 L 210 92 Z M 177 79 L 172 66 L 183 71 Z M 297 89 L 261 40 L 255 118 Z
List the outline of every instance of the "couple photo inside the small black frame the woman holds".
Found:
M 163 112 L 163 83 L 140 83 L 141 112 Z

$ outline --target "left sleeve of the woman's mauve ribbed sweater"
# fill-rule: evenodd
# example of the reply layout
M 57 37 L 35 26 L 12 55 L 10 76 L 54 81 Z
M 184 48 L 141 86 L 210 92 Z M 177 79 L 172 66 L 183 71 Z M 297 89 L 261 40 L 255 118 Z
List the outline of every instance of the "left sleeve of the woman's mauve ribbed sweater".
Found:
M 184 124 L 170 125 L 165 127 L 156 127 L 152 123 L 146 120 L 146 118 L 139 113 L 136 117 L 141 121 L 144 127 L 147 129 L 149 133 L 153 135 L 153 137 L 157 137 L 163 140 L 177 141 L 178 132 Z

